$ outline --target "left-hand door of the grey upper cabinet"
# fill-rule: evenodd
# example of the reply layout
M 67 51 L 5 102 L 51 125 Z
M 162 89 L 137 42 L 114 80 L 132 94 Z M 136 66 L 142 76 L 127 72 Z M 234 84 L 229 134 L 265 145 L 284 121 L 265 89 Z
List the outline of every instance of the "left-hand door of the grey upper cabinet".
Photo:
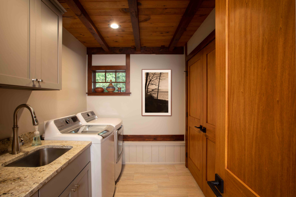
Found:
M 33 86 L 35 15 L 32 0 L 0 1 L 0 84 Z

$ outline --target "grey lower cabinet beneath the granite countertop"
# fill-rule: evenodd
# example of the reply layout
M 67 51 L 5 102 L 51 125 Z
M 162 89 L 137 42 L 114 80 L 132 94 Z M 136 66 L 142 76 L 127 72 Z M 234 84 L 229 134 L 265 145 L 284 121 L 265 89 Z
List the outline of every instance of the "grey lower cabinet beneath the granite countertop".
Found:
M 39 197 L 91 197 L 90 147 L 43 185 L 38 194 Z

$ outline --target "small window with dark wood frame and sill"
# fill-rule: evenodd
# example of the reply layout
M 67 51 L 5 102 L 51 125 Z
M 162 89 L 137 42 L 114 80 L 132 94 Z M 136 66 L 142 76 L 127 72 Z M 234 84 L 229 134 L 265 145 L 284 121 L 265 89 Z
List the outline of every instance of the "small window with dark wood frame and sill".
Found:
M 130 87 L 130 55 L 126 55 L 126 65 L 120 66 L 93 66 L 92 55 L 87 55 L 87 95 L 88 96 L 129 96 Z M 115 87 L 114 92 L 108 92 L 106 87 L 110 80 Z M 103 87 L 104 92 L 96 93 L 96 87 Z M 121 93 L 118 93 L 118 87 L 121 87 Z

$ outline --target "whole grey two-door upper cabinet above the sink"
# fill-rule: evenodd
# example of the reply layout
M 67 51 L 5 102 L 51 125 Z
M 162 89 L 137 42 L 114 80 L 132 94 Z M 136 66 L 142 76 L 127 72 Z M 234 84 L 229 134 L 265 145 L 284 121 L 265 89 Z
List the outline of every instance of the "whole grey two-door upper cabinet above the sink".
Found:
M 49 0 L 0 1 L 1 85 L 62 89 L 60 10 Z

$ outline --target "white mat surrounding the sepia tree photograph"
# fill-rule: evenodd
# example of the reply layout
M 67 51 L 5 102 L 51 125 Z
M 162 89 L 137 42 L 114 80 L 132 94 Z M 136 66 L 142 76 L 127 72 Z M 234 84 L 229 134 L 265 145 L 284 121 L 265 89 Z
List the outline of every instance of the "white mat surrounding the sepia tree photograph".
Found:
M 171 99 L 172 99 L 172 96 L 171 96 L 171 77 L 172 77 L 172 70 L 142 70 L 142 116 L 171 116 L 172 113 L 171 113 L 171 110 L 172 110 L 172 105 L 171 105 Z M 169 92 L 169 104 L 168 104 L 168 107 L 169 107 L 169 112 L 168 113 L 145 113 L 145 79 L 146 79 L 146 76 L 145 76 L 145 73 L 168 73 L 168 81 L 169 81 L 169 84 L 168 84 L 168 92 Z

